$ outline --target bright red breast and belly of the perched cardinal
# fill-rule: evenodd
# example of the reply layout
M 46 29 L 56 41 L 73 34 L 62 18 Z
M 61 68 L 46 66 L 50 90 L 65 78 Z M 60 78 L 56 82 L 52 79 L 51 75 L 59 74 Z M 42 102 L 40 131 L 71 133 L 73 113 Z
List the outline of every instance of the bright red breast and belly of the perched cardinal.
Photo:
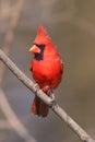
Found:
M 33 60 L 33 78 L 40 87 L 46 85 L 57 87 L 61 81 L 60 60 Z

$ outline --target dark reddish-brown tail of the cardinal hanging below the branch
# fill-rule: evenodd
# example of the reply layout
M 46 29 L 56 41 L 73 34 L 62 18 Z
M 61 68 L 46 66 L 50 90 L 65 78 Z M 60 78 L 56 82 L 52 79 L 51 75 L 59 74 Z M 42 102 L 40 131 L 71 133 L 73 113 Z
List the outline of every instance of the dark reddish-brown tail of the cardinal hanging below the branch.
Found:
M 35 96 L 31 111 L 39 117 L 46 117 L 49 113 L 49 108 L 40 98 Z

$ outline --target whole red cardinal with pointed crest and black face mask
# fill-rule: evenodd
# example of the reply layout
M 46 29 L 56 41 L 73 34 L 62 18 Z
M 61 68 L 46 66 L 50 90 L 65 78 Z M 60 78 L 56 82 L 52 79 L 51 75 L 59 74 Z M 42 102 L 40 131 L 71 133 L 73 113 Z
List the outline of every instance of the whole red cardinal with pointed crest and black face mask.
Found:
M 32 75 L 39 87 L 50 96 L 52 88 L 56 88 L 61 81 L 63 63 L 55 44 L 41 24 L 29 51 L 34 54 L 31 62 Z M 46 117 L 49 108 L 35 95 L 31 111 L 39 117 Z

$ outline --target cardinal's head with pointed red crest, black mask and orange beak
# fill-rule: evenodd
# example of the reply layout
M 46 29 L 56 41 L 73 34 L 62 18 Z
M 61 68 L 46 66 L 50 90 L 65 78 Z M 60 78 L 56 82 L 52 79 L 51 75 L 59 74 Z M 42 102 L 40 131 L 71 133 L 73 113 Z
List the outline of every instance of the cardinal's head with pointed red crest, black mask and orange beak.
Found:
M 36 38 L 29 51 L 35 55 L 36 60 L 41 60 L 44 55 L 49 55 L 51 51 L 57 51 L 56 46 L 41 24 L 38 27 Z

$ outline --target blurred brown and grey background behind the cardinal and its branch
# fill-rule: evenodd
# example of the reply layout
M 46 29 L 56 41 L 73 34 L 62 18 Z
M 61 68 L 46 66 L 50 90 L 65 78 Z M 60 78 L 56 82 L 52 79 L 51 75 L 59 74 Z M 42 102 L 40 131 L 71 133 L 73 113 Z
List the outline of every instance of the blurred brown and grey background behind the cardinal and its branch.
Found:
M 57 102 L 95 139 L 95 0 L 0 0 L 0 48 L 9 46 L 9 57 L 29 79 L 28 49 L 39 23 L 64 62 Z M 81 142 L 51 110 L 45 119 L 33 116 L 34 94 L 3 68 L 0 142 Z

